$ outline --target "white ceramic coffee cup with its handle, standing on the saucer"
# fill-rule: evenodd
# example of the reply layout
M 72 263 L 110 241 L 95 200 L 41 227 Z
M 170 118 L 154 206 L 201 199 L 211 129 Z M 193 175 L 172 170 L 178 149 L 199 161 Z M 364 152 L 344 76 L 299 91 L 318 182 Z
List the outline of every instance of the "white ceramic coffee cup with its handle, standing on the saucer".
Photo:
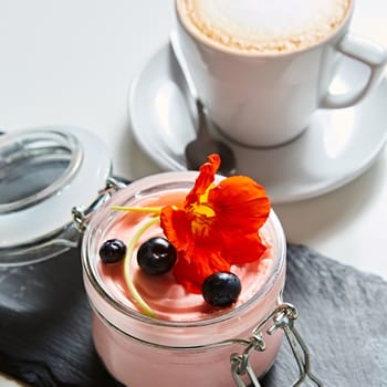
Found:
M 381 80 L 387 51 L 348 31 L 354 1 L 339 25 L 323 40 L 285 52 L 221 46 L 184 21 L 184 2 L 176 1 L 177 38 L 198 95 L 220 130 L 239 144 L 270 147 L 287 143 L 307 128 L 315 111 L 352 106 Z M 359 90 L 332 94 L 330 85 L 341 54 L 368 66 L 369 77 Z

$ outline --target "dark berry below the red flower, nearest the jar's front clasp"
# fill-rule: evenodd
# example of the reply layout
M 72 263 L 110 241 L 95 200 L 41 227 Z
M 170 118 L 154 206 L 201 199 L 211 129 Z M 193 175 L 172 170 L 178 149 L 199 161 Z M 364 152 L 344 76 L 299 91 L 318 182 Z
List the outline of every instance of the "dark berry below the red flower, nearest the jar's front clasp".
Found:
M 209 275 L 201 285 L 203 299 L 212 306 L 233 304 L 241 290 L 239 278 L 230 272 L 216 272 Z

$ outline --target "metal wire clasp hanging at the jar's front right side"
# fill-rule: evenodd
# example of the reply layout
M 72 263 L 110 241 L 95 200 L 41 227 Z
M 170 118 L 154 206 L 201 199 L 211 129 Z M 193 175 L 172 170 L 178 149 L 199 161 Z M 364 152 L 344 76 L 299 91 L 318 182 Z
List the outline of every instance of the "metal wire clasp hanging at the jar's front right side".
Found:
M 242 380 L 242 376 L 244 375 L 248 375 L 249 385 L 251 384 L 253 387 L 261 386 L 254 370 L 249 363 L 249 358 L 253 351 L 265 351 L 262 330 L 270 320 L 273 321 L 273 325 L 266 330 L 266 334 L 272 335 L 278 328 L 283 330 L 299 366 L 300 375 L 299 378 L 293 383 L 292 387 L 301 386 L 306 377 L 308 377 L 316 386 L 323 386 L 323 383 L 311 372 L 310 352 L 299 331 L 294 326 L 294 322 L 299 312 L 295 306 L 289 303 L 281 303 L 254 328 L 243 353 L 231 355 L 231 375 L 238 387 L 248 386 Z

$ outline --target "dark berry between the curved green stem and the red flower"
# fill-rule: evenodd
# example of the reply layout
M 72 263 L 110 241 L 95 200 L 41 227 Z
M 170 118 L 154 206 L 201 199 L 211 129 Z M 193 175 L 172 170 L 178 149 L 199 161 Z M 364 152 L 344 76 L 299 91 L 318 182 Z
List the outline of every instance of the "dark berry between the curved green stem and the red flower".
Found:
M 176 262 L 176 249 L 165 238 L 150 238 L 137 251 L 137 263 L 142 270 L 151 275 L 168 272 Z

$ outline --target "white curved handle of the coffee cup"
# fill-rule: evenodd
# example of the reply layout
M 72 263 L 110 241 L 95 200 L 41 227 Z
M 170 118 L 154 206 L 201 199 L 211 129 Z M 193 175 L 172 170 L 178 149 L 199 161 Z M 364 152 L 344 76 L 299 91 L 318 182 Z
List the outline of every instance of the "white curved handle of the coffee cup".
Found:
M 355 105 L 359 102 L 380 80 L 387 63 L 387 51 L 365 39 L 347 33 L 336 46 L 342 54 L 366 64 L 370 74 L 367 83 L 359 90 L 349 91 L 345 94 L 332 94 L 323 98 L 322 108 L 342 108 Z

